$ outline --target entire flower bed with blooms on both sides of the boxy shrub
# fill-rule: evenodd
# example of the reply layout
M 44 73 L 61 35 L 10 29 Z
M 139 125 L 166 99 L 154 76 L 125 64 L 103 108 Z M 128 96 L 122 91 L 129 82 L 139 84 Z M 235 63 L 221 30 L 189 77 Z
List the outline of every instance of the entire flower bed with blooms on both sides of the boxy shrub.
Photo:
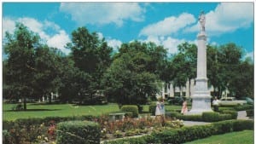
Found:
M 55 143 L 58 123 L 67 121 L 61 118 L 18 119 L 5 122 L 3 129 L 3 143 Z M 101 139 L 111 140 L 132 135 L 145 135 L 152 132 L 171 130 L 183 126 L 183 121 L 168 119 L 164 122 L 160 118 L 128 118 L 110 121 L 108 115 L 95 118 L 68 118 L 68 120 L 90 120 L 99 123 Z

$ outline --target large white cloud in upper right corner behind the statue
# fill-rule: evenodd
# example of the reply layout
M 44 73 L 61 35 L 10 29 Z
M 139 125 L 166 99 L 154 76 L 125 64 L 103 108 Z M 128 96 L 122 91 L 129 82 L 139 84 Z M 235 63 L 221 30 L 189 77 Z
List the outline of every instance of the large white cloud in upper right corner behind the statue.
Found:
M 246 28 L 253 23 L 253 3 L 220 3 L 206 14 L 206 31 L 210 35 L 220 35 Z M 184 32 L 199 32 L 199 23 Z

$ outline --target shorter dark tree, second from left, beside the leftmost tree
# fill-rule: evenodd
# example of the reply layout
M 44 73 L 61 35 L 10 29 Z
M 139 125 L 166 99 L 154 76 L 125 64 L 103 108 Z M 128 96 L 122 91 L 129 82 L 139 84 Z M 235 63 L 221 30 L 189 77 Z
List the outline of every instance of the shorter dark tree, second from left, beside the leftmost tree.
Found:
M 60 86 L 61 51 L 42 45 L 35 49 L 35 78 L 34 91 L 41 98 L 43 95 L 49 97 L 51 92 L 56 92 Z

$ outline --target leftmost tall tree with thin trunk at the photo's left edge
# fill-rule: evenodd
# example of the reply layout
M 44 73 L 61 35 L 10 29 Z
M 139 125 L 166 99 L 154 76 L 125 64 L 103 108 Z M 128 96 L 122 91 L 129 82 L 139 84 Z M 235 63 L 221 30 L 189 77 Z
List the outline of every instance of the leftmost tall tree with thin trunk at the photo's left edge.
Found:
M 30 32 L 26 26 L 16 24 L 15 33 L 6 33 L 3 49 L 8 55 L 5 87 L 12 89 L 12 95 L 22 98 L 26 110 L 26 98 L 32 97 L 32 80 L 35 74 L 35 48 L 39 45 L 37 34 Z

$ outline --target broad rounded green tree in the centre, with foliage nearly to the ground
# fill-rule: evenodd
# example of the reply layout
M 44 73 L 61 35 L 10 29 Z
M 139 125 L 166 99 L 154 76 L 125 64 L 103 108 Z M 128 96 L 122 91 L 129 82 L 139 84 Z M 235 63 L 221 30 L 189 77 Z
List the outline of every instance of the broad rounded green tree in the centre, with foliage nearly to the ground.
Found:
M 152 72 L 155 67 L 149 68 L 153 60 L 148 44 L 124 43 L 119 50 L 103 78 L 105 95 L 119 104 L 145 104 L 157 93 L 160 80 Z

